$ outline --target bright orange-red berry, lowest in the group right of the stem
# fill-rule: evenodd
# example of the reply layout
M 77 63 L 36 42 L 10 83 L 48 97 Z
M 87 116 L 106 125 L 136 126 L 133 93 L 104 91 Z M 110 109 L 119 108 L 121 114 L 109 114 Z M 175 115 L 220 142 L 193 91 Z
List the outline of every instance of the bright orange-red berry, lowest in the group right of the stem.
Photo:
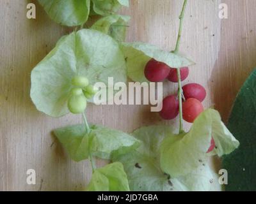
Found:
M 198 99 L 189 98 L 182 103 L 183 119 L 193 123 L 196 117 L 204 111 L 204 106 Z

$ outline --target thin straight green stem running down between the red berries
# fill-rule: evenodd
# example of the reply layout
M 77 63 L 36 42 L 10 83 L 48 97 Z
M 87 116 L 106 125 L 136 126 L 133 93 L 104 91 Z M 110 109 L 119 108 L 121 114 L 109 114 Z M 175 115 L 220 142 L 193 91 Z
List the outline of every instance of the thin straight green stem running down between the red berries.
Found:
M 181 38 L 182 27 L 183 27 L 183 20 L 184 20 L 184 13 L 185 13 L 185 10 L 186 10 L 187 3 L 188 3 L 188 0 L 184 0 L 183 6 L 182 6 L 182 10 L 181 10 L 181 13 L 180 13 L 180 16 L 179 16 L 179 19 L 180 19 L 179 33 L 178 33 L 178 37 L 177 37 L 177 42 L 176 42 L 175 50 L 173 51 L 173 53 L 179 52 L 180 38 Z M 183 132 L 183 117 L 182 117 L 182 96 L 183 96 L 183 91 L 182 91 L 181 78 L 180 78 L 180 68 L 177 68 L 177 75 L 178 75 L 178 83 L 179 83 L 179 92 L 178 92 L 178 96 L 179 96 L 179 133 L 182 133 Z

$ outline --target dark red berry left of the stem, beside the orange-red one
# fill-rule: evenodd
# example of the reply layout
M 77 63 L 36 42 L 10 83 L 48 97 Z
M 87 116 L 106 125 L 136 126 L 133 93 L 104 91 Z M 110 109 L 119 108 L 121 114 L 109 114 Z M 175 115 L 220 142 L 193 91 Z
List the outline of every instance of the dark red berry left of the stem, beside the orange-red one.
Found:
M 159 115 L 164 120 L 172 120 L 179 115 L 179 100 L 177 96 L 167 96 L 163 99 L 163 109 Z

